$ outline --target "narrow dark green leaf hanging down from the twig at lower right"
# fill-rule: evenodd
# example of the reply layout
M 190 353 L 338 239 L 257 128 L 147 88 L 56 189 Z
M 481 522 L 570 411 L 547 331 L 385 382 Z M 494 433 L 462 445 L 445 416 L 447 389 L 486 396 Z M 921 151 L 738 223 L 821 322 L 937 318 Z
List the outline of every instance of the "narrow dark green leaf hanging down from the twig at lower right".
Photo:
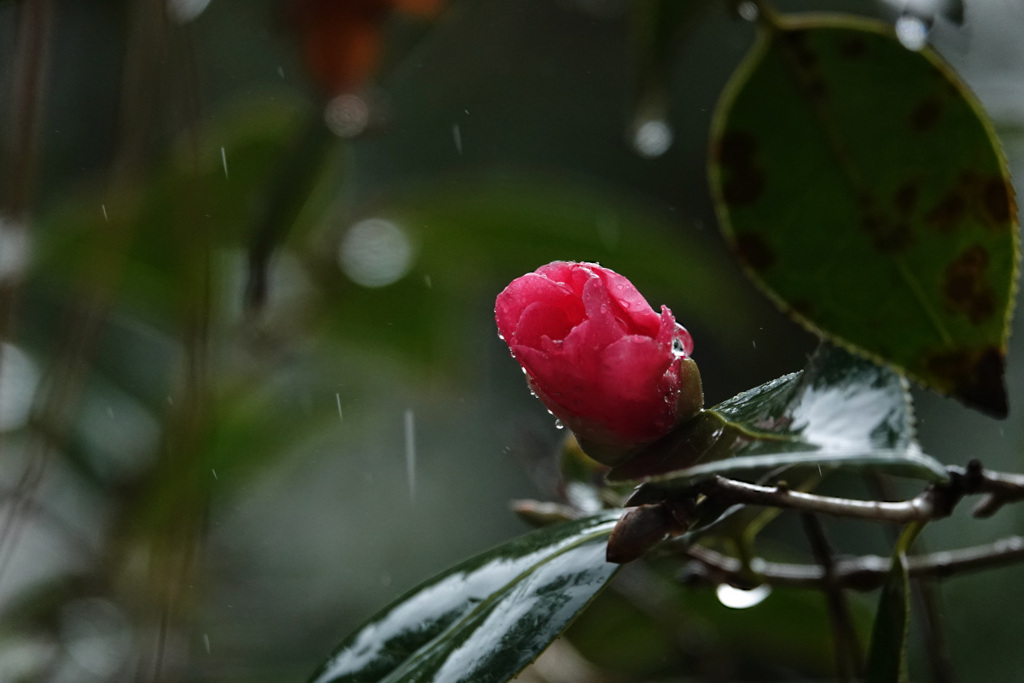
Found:
M 871 630 L 865 683 L 904 683 L 908 680 L 906 639 L 910 626 L 910 581 L 906 551 L 922 526 L 908 525 L 896 544 L 892 569 L 882 587 L 879 611 Z

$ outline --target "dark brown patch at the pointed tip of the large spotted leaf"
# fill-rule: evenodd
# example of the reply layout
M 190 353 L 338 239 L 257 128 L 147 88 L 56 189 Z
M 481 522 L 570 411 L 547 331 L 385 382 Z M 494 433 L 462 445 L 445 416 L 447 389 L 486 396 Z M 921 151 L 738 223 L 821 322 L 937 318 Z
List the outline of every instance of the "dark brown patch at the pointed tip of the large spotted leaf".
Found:
M 995 346 L 942 351 L 925 361 L 930 379 L 944 392 L 995 418 L 1010 412 L 1004 383 L 1006 357 Z

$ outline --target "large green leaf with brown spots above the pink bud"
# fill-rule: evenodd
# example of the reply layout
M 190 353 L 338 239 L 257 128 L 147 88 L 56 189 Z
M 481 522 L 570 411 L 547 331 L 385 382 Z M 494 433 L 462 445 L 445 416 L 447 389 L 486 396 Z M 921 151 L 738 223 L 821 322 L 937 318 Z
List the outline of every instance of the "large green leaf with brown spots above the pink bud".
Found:
M 782 310 L 1006 416 L 1017 206 L 936 53 L 877 22 L 772 18 L 719 102 L 709 171 L 728 243 Z

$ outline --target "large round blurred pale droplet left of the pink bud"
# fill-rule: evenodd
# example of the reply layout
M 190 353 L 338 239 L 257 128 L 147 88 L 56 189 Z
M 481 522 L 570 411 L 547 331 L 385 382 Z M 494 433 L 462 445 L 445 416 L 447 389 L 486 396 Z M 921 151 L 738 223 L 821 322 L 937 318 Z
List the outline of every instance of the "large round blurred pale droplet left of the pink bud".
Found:
M 341 241 L 341 269 L 356 285 L 384 287 L 400 280 L 413 265 L 413 243 L 398 225 L 367 218 L 348 228 Z

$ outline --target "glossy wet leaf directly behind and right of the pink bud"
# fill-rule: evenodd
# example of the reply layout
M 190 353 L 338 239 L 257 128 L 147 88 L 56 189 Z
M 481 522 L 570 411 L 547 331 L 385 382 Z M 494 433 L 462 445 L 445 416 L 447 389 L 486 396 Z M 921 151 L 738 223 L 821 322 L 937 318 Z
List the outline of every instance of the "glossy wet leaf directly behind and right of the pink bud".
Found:
M 796 468 L 870 468 L 929 481 L 948 478 L 914 440 L 905 381 L 829 344 L 802 372 L 705 411 L 614 467 L 608 478 L 656 483 L 653 494 L 716 474 L 781 468 L 787 474 Z

